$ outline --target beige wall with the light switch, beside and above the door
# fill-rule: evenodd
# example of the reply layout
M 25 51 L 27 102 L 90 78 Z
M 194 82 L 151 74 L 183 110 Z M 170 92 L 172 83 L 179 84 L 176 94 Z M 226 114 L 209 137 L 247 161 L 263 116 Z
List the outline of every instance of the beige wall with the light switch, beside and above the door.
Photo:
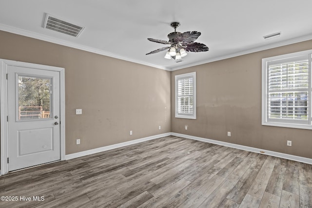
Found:
M 0 58 L 65 68 L 66 154 L 171 131 L 168 71 L 3 31 Z

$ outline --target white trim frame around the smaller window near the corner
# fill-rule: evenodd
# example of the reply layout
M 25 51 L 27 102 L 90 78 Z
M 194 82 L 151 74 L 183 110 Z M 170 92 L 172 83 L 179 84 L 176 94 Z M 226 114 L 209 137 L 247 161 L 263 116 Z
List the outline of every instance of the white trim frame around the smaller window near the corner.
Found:
M 177 80 L 183 79 L 183 77 L 193 76 L 193 114 L 192 115 L 183 115 L 178 113 L 177 109 Z M 175 76 L 175 116 L 176 118 L 187 118 L 187 119 L 196 119 L 196 72 L 181 74 Z

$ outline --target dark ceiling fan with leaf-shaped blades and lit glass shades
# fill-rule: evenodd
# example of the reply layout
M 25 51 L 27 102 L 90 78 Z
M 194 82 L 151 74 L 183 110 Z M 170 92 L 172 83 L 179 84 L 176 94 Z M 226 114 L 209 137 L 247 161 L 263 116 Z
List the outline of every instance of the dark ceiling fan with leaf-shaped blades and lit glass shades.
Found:
M 166 53 L 165 58 L 171 59 L 174 58 L 175 60 L 181 59 L 187 55 L 187 52 L 204 52 L 208 51 L 209 48 L 199 42 L 195 42 L 195 40 L 200 36 L 200 32 L 197 31 L 188 31 L 184 33 L 176 32 L 176 28 L 180 26 L 180 22 L 171 22 L 170 24 L 173 28 L 175 28 L 175 32 L 169 33 L 167 40 L 157 40 L 153 38 L 147 38 L 152 42 L 162 43 L 162 44 L 170 44 L 170 46 L 159 48 L 155 51 L 152 51 L 149 54 L 155 54 L 161 51 L 168 50 Z

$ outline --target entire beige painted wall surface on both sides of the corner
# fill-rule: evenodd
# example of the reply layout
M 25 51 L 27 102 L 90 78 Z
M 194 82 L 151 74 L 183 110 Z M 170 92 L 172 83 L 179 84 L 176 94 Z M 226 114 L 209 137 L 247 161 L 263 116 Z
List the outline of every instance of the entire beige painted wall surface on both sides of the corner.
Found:
M 0 58 L 65 68 L 66 154 L 177 132 L 312 158 L 311 130 L 261 125 L 261 59 L 311 48 L 312 40 L 170 73 L 0 31 Z M 174 77 L 194 71 L 197 119 L 175 118 Z

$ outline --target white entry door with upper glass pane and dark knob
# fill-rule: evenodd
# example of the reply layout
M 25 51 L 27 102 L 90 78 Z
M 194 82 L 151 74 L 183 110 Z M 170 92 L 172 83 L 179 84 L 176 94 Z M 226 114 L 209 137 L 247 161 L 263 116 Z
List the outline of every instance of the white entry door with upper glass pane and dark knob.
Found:
M 7 66 L 8 170 L 60 160 L 59 72 Z

